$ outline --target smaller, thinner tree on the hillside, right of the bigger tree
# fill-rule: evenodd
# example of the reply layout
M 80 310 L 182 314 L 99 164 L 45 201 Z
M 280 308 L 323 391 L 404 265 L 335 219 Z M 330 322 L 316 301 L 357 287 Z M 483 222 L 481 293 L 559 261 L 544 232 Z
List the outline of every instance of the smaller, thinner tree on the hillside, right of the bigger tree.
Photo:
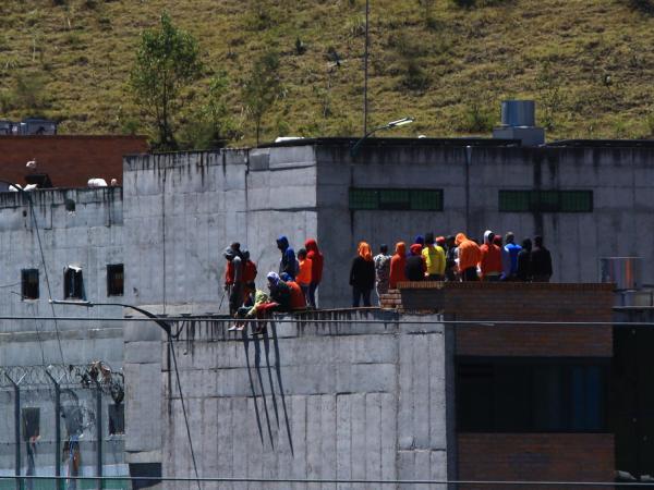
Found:
M 281 91 L 279 57 L 272 51 L 259 56 L 243 84 L 243 102 L 254 122 L 256 144 L 259 144 L 262 121 Z

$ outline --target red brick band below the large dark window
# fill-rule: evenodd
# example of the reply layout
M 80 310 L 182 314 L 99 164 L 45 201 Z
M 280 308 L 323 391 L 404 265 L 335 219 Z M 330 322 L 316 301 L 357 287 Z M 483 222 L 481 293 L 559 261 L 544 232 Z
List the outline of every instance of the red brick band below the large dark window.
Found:
M 458 453 L 462 480 L 614 480 L 614 436 L 608 433 L 460 433 Z M 473 488 L 505 487 L 461 486 Z

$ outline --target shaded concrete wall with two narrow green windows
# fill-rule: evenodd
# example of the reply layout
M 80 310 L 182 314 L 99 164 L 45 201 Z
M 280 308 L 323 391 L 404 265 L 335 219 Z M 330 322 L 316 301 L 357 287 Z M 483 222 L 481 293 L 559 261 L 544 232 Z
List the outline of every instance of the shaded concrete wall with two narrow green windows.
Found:
M 318 164 L 318 237 L 329 269 L 323 297 L 348 301 L 350 261 L 356 243 L 376 250 L 396 242 L 413 243 L 417 234 L 468 232 L 481 238 L 486 229 L 517 240 L 542 233 L 553 253 L 554 281 L 594 282 L 598 259 L 607 256 L 650 257 L 654 233 L 647 225 L 654 204 L 654 151 L 651 148 L 474 147 L 470 161 L 465 212 L 465 148 L 386 145 L 371 142 L 353 162 L 346 144 L 316 147 Z M 444 211 L 354 211 L 348 187 L 444 189 Z M 499 212 L 499 189 L 592 189 L 594 211 Z M 643 282 L 654 282 L 654 264 L 645 260 Z M 340 295 L 339 295 L 340 294 Z M 342 304 L 342 303 L 341 303 Z

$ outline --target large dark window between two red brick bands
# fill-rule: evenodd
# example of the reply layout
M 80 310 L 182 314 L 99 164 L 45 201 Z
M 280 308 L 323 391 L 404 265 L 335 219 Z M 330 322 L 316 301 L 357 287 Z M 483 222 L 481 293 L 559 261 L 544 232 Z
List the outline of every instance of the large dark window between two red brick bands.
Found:
M 461 432 L 606 432 L 602 359 L 460 358 Z

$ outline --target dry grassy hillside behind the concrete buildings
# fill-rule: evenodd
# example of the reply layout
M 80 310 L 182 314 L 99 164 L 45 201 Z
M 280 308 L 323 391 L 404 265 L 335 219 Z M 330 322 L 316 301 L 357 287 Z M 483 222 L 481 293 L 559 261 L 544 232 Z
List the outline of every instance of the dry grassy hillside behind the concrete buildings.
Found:
M 472 8 L 371 0 L 371 123 L 416 118 L 393 135 L 486 135 L 510 97 L 538 101 L 548 138 L 654 135 L 646 0 L 477 0 Z M 364 0 L 8 0 L 0 3 L 0 119 L 40 113 L 60 120 L 62 133 L 144 131 L 126 79 L 140 33 L 164 10 L 198 38 L 208 68 L 186 94 L 180 125 L 210 70 L 226 70 L 243 133 L 232 144 L 251 144 L 239 87 L 253 57 L 272 48 L 284 90 L 265 118 L 264 139 L 361 131 Z

